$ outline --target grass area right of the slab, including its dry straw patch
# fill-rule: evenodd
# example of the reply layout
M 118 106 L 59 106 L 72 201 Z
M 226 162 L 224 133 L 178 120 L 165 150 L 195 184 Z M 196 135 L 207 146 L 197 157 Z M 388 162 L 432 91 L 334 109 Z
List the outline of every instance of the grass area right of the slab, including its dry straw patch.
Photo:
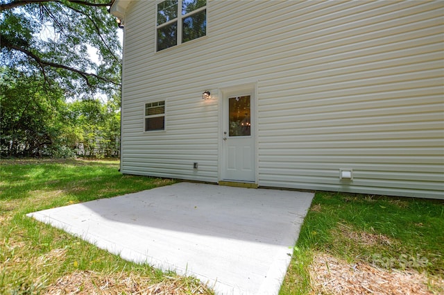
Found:
M 442 294 L 443 245 L 443 201 L 317 192 L 280 294 Z M 390 282 L 407 289 L 383 285 L 394 272 L 402 273 L 404 281 L 397 274 Z M 335 291 L 343 278 L 357 285 Z M 361 284 L 369 280 L 384 286 L 382 293 Z

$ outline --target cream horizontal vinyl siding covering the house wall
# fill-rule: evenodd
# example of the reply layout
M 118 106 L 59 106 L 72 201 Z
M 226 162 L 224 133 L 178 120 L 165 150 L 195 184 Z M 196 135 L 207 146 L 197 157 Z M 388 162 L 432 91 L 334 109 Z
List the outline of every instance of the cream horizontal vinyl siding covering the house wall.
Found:
M 256 83 L 259 186 L 443 199 L 444 2 L 208 1 L 207 37 L 157 53 L 155 14 L 127 11 L 123 173 L 216 183 L 202 92 Z M 146 136 L 140 106 L 165 94 L 168 130 Z

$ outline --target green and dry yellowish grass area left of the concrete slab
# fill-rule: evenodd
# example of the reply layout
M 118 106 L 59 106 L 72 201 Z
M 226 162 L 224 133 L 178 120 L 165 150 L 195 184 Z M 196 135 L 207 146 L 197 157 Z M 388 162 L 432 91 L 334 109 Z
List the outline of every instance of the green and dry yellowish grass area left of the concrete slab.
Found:
M 124 176 L 118 169 L 115 160 L 1 161 L 0 294 L 137 294 L 142 289 L 162 294 L 162 288 L 164 294 L 212 294 L 194 278 L 127 262 L 26 217 L 29 212 L 175 183 Z M 157 291 L 148 292 L 153 286 Z

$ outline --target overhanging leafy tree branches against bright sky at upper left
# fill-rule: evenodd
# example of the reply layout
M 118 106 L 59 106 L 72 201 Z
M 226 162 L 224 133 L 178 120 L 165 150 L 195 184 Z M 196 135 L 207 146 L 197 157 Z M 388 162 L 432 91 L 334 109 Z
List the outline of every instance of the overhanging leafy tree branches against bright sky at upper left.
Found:
M 120 91 L 121 45 L 110 0 L 0 0 L 0 58 L 7 67 L 40 71 L 68 96 Z M 96 49 L 98 58 L 91 58 Z

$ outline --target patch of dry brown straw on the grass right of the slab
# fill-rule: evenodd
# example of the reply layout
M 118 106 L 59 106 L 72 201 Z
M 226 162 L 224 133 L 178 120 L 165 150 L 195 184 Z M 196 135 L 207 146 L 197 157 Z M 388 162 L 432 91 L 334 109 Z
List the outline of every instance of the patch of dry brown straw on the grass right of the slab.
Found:
M 387 271 L 364 262 L 349 264 L 323 253 L 316 253 L 309 273 L 313 294 L 433 294 L 427 289 L 427 277 L 417 271 Z

